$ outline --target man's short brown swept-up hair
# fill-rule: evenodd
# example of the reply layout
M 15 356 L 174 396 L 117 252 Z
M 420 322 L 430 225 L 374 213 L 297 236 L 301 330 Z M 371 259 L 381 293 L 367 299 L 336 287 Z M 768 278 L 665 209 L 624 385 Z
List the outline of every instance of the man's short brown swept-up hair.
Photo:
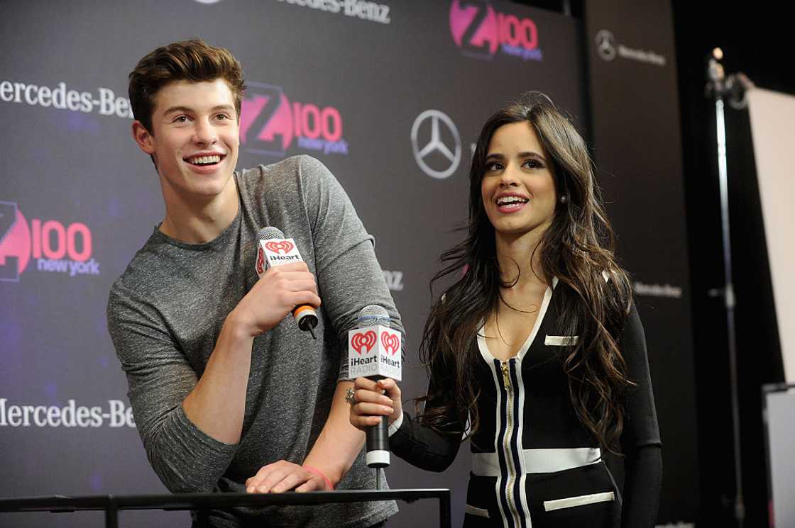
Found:
M 240 62 L 225 48 L 215 48 L 200 39 L 182 40 L 156 48 L 138 61 L 130 72 L 130 105 L 133 114 L 149 133 L 152 129 L 154 96 L 172 81 L 213 81 L 223 79 L 235 97 L 235 110 L 240 119 L 240 106 L 246 85 Z

